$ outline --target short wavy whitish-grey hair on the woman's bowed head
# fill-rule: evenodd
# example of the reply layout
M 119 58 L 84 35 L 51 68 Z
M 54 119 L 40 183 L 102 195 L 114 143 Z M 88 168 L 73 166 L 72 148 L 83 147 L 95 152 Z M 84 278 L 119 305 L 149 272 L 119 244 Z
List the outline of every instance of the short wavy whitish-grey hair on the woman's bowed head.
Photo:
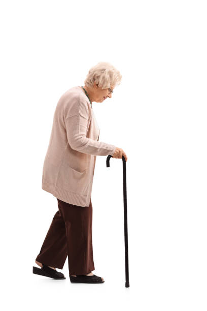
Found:
M 92 88 L 95 81 L 95 84 L 103 89 L 119 85 L 121 78 L 120 72 L 114 66 L 106 61 L 99 61 L 97 65 L 91 67 L 84 83 Z

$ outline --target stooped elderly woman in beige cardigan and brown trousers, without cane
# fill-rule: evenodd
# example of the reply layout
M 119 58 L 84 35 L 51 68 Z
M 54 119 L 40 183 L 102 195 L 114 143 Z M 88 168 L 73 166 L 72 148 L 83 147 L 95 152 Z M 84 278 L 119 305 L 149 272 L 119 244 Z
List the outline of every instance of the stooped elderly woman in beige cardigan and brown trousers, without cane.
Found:
M 127 161 L 123 149 L 98 141 L 99 128 L 92 102 L 112 97 L 121 75 L 111 64 L 100 62 L 89 70 L 84 86 L 68 89 L 59 99 L 46 153 L 42 189 L 57 199 L 55 213 L 33 273 L 64 279 L 68 256 L 70 281 L 103 283 L 93 274 L 91 191 L 96 155 L 111 154 Z

